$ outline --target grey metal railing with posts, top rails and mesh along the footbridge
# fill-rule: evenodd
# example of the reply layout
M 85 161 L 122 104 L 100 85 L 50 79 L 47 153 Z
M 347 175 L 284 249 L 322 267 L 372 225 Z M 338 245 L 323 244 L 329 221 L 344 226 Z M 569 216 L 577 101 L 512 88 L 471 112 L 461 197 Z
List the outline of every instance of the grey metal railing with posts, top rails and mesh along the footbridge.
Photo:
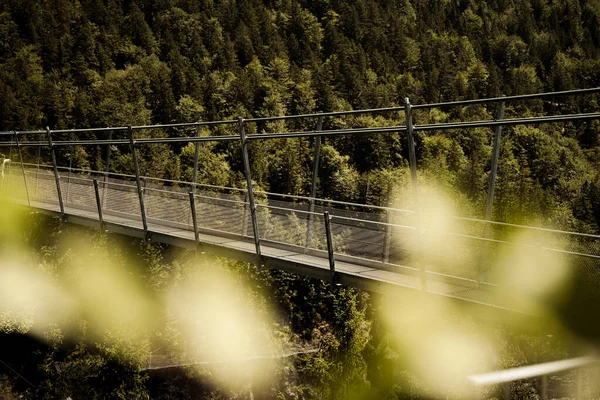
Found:
M 600 88 L 542 93 L 521 96 L 476 99 L 448 103 L 411 105 L 408 99 L 400 107 L 371 110 L 315 113 L 305 115 L 238 118 L 237 120 L 194 122 L 168 125 L 145 125 L 112 128 L 89 128 L 70 130 L 13 131 L 0 132 L 0 147 L 17 146 L 19 150 L 20 174 L 28 204 L 32 200 L 58 203 L 64 215 L 65 207 L 83 207 L 98 212 L 98 219 L 104 229 L 105 217 L 109 214 L 139 218 L 146 236 L 148 223 L 175 224 L 193 230 L 198 241 L 202 230 L 221 232 L 240 237 L 252 238 L 257 255 L 257 263 L 263 264 L 261 241 L 294 246 L 303 251 L 317 252 L 327 257 L 332 270 L 332 283 L 335 284 L 335 259 L 345 257 L 356 263 L 392 268 L 416 274 L 420 277 L 422 289 L 427 289 L 427 281 L 432 277 L 452 277 L 462 282 L 493 284 L 487 281 L 486 254 L 505 246 L 529 246 L 539 251 L 551 251 L 568 255 L 576 260 L 578 268 L 593 269 L 600 258 L 600 236 L 577 232 L 536 228 L 491 221 L 494 200 L 494 186 L 499 158 L 502 127 L 559 123 L 569 121 L 589 121 L 600 119 L 600 113 L 567 114 L 541 117 L 504 119 L 507 102 L 532 99 L 546 99 L 557 96 L 599 93 Z M 413 121 L 413 110 L 434 107 L 456 107 L 475 104 L 497 105 L 496 118 L 484 121 L 446 122 L 417 125 Z M 404 125 L 323 129 L 324 119 L 368 113 L 402 112 Z M 249 124 L 277 120 L 316 119 L 313 130 L 278 133 L 246 134 Z M 201 136 L 200 127 L 226 126 L 234 129 L 230 135 Z M 428 225 L 431 214 L 418 208 L 419 186 L 414 135 L 416 132 L 441 131 L 451 129 L 495 128 L 492 171 L 490 174 L 485 219 L 451 217 L 458 222 L 453 232 L 436 232 Z M 192 129 L 193 136 L 136 138 L 134 132 L 140 130 Z M 319 171 L 319 154 L 322 136 L 381 134 L 404 132 L 409 150 L 413 210 L 397 209 L 380 205 L 358 204 L 316 197 L 316 183 Z M 113 135 L 126 134 L 126 138 Z M 68 140 L 57 140 L 57 135 L 68 134 Z M 74 134 L 107 134 L 105 139 L 74 139 Z M 29 140 L 30 135 L 46 135 L 46 140 Z M 53 137 L 54 135 L 54 137 Z M 248 142 L 279 138 L 314 137 L 314 157 L 310 196 L 293 196 L 255 190 L 253 187 Z M 243 160 L 245 188 L 218 187 L 197 182 L 199 146 L 209 141 L 238 141 Z M 138 163 L 138 148 L 154 143 L 194 143 L 195 159 L 192 182 L 158 179 L 142 176 Z M 56 149 L 60 146 L 106 146 L 106 170 L 91 171 L 62 167 L 57 164 Z M 110 171 L 111 146 L 127 146 L 131 152 L 134 174 L 116 174 Z M 22 148 L 33 146 L 50 149 L 51 164 L 23 162 Z M 495 167 L 496 166 L 496 167 Z M 42 170 L 40 170 L 42 169 Z M 44 172 L 46 170 L 47 172 Z M 16 170 L 12 168 L 11 174 Z M 64 173 L 67 176 L 64 176 Z M 63 175 L 61 175 L 61 173 Z M 12 176 L 11 175 L 11 176 Z M 34 175 L 35 182 L 28 176 Z M 51 181 L 54 181 L 54 184 Z M 15 182 L 16 183 L 16 182 Z M 32 186 L 33 184 L 33 186 Z M 66 190 L 63 190 L 63 187 Z M 217 195 L 218 194 L 218 195 Z M 210 215 L 212 213 L 212 216 Z M 323 219 L 321 221 L 321 219 Z M 240 224 L 240 221 L 242 222 Z M 483 229 L 482 229 L 483 227 Z M 251 234 L 249 234 L 251 228 Z M 515 230 L 543 232 L 550 237 L 548 244 L 516 244 L 510 241 L 509 233 Z M 452 236 L 458 245 L 443 254 L 429 254 L 427 241 L 436 235 Z M 392 240 L 393 238 L 393 240 Z M 570 238 L 570 239 L 566 239 Z M 473 260 L 466 263 L 461 252 L 475 253 Z M 321 252 L 321 253 L 319 253 Z M 592 261 L 590 261 L 592 260 Z M 477 266 L 471 264 L 479 264 Z M 468 264 L 468 265 L 467 265 Z M 407 267 L 407 265 L 412 265 Z M 462 265 L 462 267 L 460 267 Z M 415 267 L 416 266 L 416 267 Z M 450 266 L 450 267 L 449 267 Z M 600 277 L 598 278 L 600 279 Z

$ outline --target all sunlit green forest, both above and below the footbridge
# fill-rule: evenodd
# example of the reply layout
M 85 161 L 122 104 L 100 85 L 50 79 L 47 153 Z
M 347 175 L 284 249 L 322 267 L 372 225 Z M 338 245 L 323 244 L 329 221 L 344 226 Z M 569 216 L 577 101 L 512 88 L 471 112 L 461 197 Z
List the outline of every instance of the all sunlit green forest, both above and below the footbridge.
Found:
M 0 3 L 0 131 L 229 120 L 391 107 L 404 104 L 405 98 L 422 104 L 592 88 L 600 86 L 599 71 L 600 0 Z M 586 95 L 509 103 L 505 117 L 595 111 L 598 95 Z M 469 106 L 419 111 L 414 118 L 424 124 L 493 119 L 495 114 L 494 107 Z M 403 122 L 400 112 L 327 118 L 324 124 L 333 129 Z M 310 124 L 278 121 L 248 130 L 313 129 Z M 167 133 L 193 135 L 177 129 Z M 202 134 L 231 133 L 214 128 Z M 598 121 L 505 128 L 493 219 L 600 233 L 599 134 Z M 460 215 L 482 218 L 492 137 L 490 129 L 419 133 L 420 183 L 443 192 Z M 256 142 L 249 150 L 257 188 L 310 193 L 309 139 Z M 24 151 L 26 161 L 36 159 L 33 150 Z M 408 181 L 404 134 L 325 138 L 321 151 L 318 197 L 375 205 L 397 204 L 406 197 L 402 190 L 391 189 L 406 187 Z M 151 145 L 141 151 L 140 167 L 148 176 L 189 181 L 193 156 L 192 144 Z M 58 163 L 104 170 L 102 153 L 94 148 L 61 148 Z M 110 168 L 133 173 L 129 151 L 115 147 Z M 203 145 L 198 182 L 244 187 L 239 146 Z M 61 238 L 75 228 L 41 216 L 31 218 L 31 228 L 18 236 L 34 264 L 60 276 L 75 251 Z M 190 261 L 189 254 L 175 256 L 176 250 L 164 246 L 98 237 L 91 231 L 78 234 L 100 243 L 93 251 L 101 258 L 113 248 L 121 249 L 126 260 L 122 263 L 133 265 L 142 285 L 157 293 L 197 262 Z M 2 246 L 8 248 L 10 239 L 3 238 Z M 136 257 L 128 253 L 143 261 L 133 261 Z M 248 281 L 248 287 L 261 288 L 251 289 L 248 296 L 279 310 L 274 332 L 288 342 L 318 343 L 322 349 L 316 356 L 288 360 L 277 382 L 269 390 L 263 388 L 262 397 L 434 396 L 430 383 L 403 366 L 402 352 L 375 316 L 378 300 L 371 294 L 353 289 L 331 293 L 323 282 L 208 260 L 204 262 L 222 264 L 236 279 Z M 15 353 L 8 361 L 2 359 L 10 368 L 21 369 L 15 375 L 0 365 L 0 396 L 247 396 L 240 387 L 211 392 L 206 375 L 200 389 L 189 388 L 191 381 L 181 377 L 157 389 L 160 384 L 154 378 L 138 372 L 136 362 L 147 348 L 136 348 L 134 341 L 126 353 L 140 358 L 128 358 L 128 363 L 115 355 L 112 341 L 86 338 L 85 329 L 63 340 L 57 328 L 54 337 L 36 342 L 23 335 L 28 331 L 25 325 L 20 327 L 0 309 L 2 346 L 28 349 L 25 356 Z M 552 358 L 564 350 L 552 338 L 514 338 L 498 330 L 502 333 L 494 335 L 503 350 L 496 367 Z M 144 335 L 148 339 L 156 332 Z M 53 366 L 56 362 L 71 367 L 61 374 Z

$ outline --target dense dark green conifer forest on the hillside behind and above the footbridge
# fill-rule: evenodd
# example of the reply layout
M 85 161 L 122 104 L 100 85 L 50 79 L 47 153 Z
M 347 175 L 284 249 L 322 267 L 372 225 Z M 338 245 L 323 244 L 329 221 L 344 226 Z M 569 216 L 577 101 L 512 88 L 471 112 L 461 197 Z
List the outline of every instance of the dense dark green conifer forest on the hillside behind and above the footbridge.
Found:
M 106 127 L 277 116 L 600 86 L 600 3 L 561 1 L 12 1 L 0 20 L 0 129 Z M 506 116 L 596 111 L 597 96 L 510 104 Z M 483 107 L 416 123 L 493 118 Z M 326 121 L 377 126 L 400 115 Z M 308 123 L 308 122 L 307 122 Z M 262 131 L 312 128 L 284 122 Z M 215 133 L 215 132 L 213 132 Z M 216 132 L 224 133 L 224 132 Z M 172 135 L 182 132 L 174 131 Z M 495 219 L 596 232 L 598 122 L 508 129 Z M 265 189 L 306 194 L 308 141 L 251 147 Z M 191 178 L 192 145 L 149 150 L 143 173 Z M 91 149 L 59 157 L 102 168 Z M 481 216 L 488 129 L 417 138 L 419 167 Z M 237 149 L 203 147 L 200 182 L 241 184 Z M 328 139 L 320 197 L 384 203 L 402 135 Z M 99 167 L 99 168 L 96 168 Z M 112 167 L 131 170 L 123 154 Z

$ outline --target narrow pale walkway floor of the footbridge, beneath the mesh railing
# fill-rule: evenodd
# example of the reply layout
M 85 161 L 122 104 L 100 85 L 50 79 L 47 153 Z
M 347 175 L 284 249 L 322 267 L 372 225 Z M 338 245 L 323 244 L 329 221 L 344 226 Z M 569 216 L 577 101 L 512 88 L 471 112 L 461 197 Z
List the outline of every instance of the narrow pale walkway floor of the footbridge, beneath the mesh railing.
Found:
M 26 202 L 17 201 L 23 205 Z M 58 205 L 40 201 L 31 201 L 31 207 L 39 212 L 51 215 L 60 215 Z M 76 207 L 65 206 L 65 218 L 68 222 L 88 227 L 98 227 L 98 214 Z M 125 218 L 115 215 L 104 215 L 107 231 L 144 237 L 141 222 L 134 218 Z M 156 222 L 148 223 L 148 231 L 152 241 L 171 244 L 179 247 L 194 248 L 196 246 L 192 231 L 176 228 Z M 200 233 L 199 241 L 201 250 L 207 253 L 226 256 L 232 259 L 256 263 L 254 243 L 251 240 L 235 239 L 216 234 Z M 292 273 L 327 280 L 330 278 L 328 259 L 304 254 L 303 252 L 280 248 L 279 245 L 270 243 L 261 244 L 265 267 L 281 269 Z M 405 288 L 421 291 L 419 276 L 386 271 L 368 266 L 336 261 L 336 273 L 339 283 L 353 286 L 368 291 L 386 293 L 394 288 Z M 514 308 L 507 307 L 503 301 L 492 291 L 429 279 L 427 293 L 441 295 L 448 299 L 458 300 L 474 308 L 484 307 L 490 316 L 503 317 L 521 314 Z

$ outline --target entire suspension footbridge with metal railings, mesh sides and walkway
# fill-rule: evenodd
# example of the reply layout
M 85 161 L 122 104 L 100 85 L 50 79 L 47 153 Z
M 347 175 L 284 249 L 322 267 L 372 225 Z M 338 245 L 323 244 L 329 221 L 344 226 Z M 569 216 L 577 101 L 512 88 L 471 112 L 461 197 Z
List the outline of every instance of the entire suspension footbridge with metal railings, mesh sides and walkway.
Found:
M 5 148 L 5 153 L 8 150 L 12 159 L 5 171 L 2 195 L 72 223 L 324 279 L 333 287 L 347 285 L 375 292 L 402 287 L 482 306 L 489 313 L 520 312 L 514 303 L 496 295 L 498 283 L 487 273 L 492 268 L 493 255 L 513 248 L 553 254 L 567 260 L 578 274 L 600 282 L 600 236 L 492 220 L 502 129 L 592 121 L 600 119 L 600 113 L 504 118 L 505 104 L 599 92 L 600 88 L 593 88 L 419 105 L 411 105 L 406 99 L 400 107 L 370 110 L 170 125 L 0 132 L 0 147 Z M 496 117 L 421 125 L 413 121 L 413 110 L 474 105 L 495 107 Z M 327 118 L 383 113 L 403 114 L 404 123 L 323 129 Z M 307 120 L 315 125 L 306 131 L 246 133 L 250 124 L 258 126 L 281 120 Z M 220 127 L 226 127 L 227 133 Z M 429 223 L 437 216 L 421 212 L 418 207 L 399 209 L 316 197 L 321 139 L 325 136 L 382 133 L 406 136 L 412 196 L 418 205 L 415 134 L 473 128 L 491 128 L 493 142 L 485 218 L 445 216 L 452 220 L 451 231 L 437 231 L 435 224 Z M 201 135 L 201 129 L 214 132 L 205 136 Z M 143 131 L 153 132 L 152 137 L 139 133 Z M 179 133 L 173 135 L 175 131 Z M 248 144 L 307 137 L 313 138 L 314 145 L 310 194 L 295 196 L 257 190 L 253 185 Z M 191 182 L 140 173 L 138 153 L 142 146 L 190 142 L 195 144 Z M 203 142 L 240 144 L 245 188 L 197 182 L 199 147 Z M 106 169 L 59 165 L 58 150 L 65 146 L 101 147 Z M 111 149 L 115 146 L 131 153 L 135 173 L 111 172 Z M 25 148 L 37 148 L 35 162 L 24 160 Z M 44 160 L 40 157 L 41 149 L 47 154 Z M 531 233 L 535 237 L 531 242 L 514 239 Z M 439 246 L 441 242 L 451 246 Z

